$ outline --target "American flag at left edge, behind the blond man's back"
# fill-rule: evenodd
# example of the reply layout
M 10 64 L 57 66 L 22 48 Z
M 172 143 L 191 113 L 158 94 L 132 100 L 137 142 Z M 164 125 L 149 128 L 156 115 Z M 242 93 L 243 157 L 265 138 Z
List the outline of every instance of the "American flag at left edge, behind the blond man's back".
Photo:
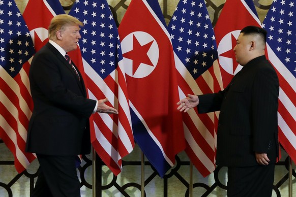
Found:
M 0 0 L 0 138 L 14 155 L 18 173 L 36 156 L 25 152 L 33 101 L 29 90 L 29 58 L 34 46 L 14 1 Z

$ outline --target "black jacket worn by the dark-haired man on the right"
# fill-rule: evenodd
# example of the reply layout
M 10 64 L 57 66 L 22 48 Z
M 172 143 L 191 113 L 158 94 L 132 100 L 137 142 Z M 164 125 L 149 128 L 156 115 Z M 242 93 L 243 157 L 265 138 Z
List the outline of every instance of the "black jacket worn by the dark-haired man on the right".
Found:
M 220 166 L 258 165 L 255 152 L 276 162 L 278 143 L 277 74 L 265 58 L 257 57 L 218 93 L 199 95 L 199 113 L 220 110 L 216 163 Z

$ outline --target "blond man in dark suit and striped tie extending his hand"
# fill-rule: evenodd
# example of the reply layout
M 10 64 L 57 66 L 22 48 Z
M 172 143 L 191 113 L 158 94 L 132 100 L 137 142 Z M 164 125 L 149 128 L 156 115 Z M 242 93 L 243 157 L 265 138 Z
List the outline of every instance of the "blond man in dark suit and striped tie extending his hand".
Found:
M 75 161 L 90 154 L 92 113 L 117 110 L 86 98 L 83 79 L 68 51 L 77 48 L 83 23 L 67 15 L 49 25 L 49 42 L 34 56 L 29 81 L 34 110 L 29 121 L 26 151 L 36 153 L 40 168 L 32 196 L 80 196 Z M 65 57 L 66 55 L 66 57 Z

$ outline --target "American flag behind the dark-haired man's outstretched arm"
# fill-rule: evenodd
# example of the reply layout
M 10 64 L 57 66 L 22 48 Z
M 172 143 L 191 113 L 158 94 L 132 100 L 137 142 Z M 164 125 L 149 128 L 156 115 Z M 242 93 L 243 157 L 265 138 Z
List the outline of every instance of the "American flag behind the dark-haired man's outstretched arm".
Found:
M 183 0 L 168 25 L 179 71 L 179 95 L 214 92 L 218 83 L 213 63 L 218 59 L 216 40 L 203 0 Z M 217 72 L 216 72 L 217 73 Z M 218 71 L 218 74 L 220 72 Z M 183 113 L 188 157 L 205 177 L 215 170 L 216 131 L 214 113 L 198 114 L 197 109 Z

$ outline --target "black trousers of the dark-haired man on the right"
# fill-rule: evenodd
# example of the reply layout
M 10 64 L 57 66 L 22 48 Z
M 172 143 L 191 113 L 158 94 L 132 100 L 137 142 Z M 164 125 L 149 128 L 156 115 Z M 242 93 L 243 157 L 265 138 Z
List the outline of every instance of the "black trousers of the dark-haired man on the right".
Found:
M 228 197 L 272 196 L 275 164 L 252 167 L 228 167 Z

